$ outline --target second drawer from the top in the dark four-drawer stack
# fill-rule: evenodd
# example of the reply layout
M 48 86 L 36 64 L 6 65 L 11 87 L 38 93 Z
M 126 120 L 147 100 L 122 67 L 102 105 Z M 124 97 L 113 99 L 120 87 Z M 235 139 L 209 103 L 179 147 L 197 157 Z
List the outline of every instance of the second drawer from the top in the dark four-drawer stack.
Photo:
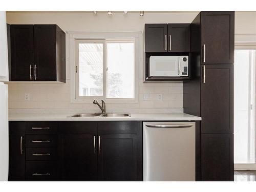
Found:
M 57 135 L 26 135 L 26 147 L 57 146 Z

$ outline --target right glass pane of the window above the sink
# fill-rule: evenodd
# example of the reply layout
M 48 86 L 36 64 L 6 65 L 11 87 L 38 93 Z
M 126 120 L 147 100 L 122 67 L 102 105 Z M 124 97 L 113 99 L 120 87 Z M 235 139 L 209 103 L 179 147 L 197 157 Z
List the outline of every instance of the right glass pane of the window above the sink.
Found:
M 107 98 L 134 98 L 134 41 L 107 41 Z

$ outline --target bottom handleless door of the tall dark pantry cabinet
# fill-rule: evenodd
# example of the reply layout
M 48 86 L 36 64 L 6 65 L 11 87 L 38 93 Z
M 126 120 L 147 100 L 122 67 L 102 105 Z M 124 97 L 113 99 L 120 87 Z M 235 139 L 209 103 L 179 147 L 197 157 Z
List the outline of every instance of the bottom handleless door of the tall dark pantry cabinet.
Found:
M 233 134 L 202 134 L 202 181 L 233 181 Z

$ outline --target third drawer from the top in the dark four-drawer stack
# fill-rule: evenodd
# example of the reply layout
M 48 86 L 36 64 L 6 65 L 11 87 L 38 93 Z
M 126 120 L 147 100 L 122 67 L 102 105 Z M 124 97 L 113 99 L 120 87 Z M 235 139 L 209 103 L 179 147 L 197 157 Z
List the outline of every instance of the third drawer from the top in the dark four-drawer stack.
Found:
M 57 160 L 57 148 L 56 147 L 27 147 L 26 160 L 29 160 L 29 161 Z

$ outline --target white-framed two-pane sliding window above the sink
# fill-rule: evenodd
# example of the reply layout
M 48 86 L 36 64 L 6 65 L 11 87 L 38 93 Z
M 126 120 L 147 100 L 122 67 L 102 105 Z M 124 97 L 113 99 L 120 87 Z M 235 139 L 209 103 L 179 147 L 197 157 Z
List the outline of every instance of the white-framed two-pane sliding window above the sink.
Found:
M 135 98 L 135 40 L 75 40 L 76 99 Z

